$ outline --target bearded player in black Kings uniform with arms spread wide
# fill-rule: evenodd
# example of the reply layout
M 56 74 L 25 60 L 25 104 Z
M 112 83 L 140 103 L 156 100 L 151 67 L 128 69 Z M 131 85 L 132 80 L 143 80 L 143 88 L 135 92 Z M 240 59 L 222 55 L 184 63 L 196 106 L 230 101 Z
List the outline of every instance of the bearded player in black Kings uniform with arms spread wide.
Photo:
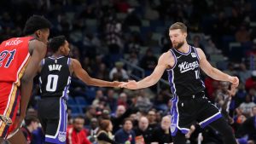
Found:
M 154 72 L 139 82 L 130 81 L 119 86 L 128 89 L 147 88 L 156 84 L 167 70 L 174 95 L 171 109 L 174 144 L 185 143 L 185 134 L 189 132 L 191 124 L 195 121 L 201 125 L 201 128 L 210 125 L 218 130 L 224 135 L 226 144 L 235 144 L 236 140 L 230 126 L 218 108 L 205 97 L 205 85 L 200 77 L 200 67 L 211 78 L 230 82 L 233 88 L 237 87 L 239 79 L 212 67 L 201 49 L 190 46 L 186 41 L 187 27 L 183 23 L 174 23 L 169 28 L 169 36 L 173 48 L 160 56 Z

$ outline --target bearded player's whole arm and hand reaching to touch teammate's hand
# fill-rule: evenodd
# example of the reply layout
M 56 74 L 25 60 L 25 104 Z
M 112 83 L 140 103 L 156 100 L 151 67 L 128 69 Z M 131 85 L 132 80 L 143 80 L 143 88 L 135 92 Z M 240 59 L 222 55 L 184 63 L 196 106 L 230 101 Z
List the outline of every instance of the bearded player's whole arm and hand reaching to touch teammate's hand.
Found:
M 148 77 L 143 78 L 138 82 L 134 80 L 128 81 L 127 83 L 120 84 L 119 87 L 127 88 L 127 89 L 143 89 L 156 84 L 159 81 L 159 79 L 162 77 L 163 73 L 165 72 L 168 66 L 167 61 L 170 60 L 168 56 L 169 55 L 167 53 L 164 53 L 163 55 L 160 56 L 158 60 L 158 64 L 154 68 L 154 72 L 152 72 L 151 75 L 149 75 Z

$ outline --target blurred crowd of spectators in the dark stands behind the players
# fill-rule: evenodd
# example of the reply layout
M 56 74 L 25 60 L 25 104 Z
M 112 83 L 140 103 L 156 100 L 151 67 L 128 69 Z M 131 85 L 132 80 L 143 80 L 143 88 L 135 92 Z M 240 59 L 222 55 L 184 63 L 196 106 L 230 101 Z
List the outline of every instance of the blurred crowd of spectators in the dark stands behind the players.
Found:
M 111 81 L 126 81 L 134 78 L 132 75 L 142 78 L 153 72 L 158 56 L 172 47 L 169 26 L 184 22 L 189 43 L 203 49 L 213 66 L 240 78 L 239 87 L 230 89 L 229 83 L 202 75 L 208 99 L 220 108 L 237 141 L 255 143 L 254 0 L 3 0 L 0 8 L 1 42 L 22 36 L 26 18 L 43 14 L 53 24 L 50 37 L 65 35 L 72 49 L 70 56 L 80 60 L 91 77 Z M 141 67 L 144 75 L 129 64 Z M 76 107 L 77 97 L 84 100 L 83 106 Z M 171 98 L 167 85 L 158 92 L 155 87 L 100 89 L 73 78 L 67 101 L 67 143 L 172 143 Z M 37 118 L 38 99 L 35 78 L 22 128 L 28 143 L 44 143 Z M 196 123 L 186 137 L 191 144 L 223 143 L 218 132 L 210 127 L 202 131 Z

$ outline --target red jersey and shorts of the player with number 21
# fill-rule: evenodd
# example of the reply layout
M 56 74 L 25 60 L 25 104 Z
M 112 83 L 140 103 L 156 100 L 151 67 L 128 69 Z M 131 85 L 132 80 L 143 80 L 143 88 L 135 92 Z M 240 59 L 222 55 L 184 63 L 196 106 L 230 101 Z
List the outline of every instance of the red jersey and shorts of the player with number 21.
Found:
M 33 37 L 14 37 L 0 45 L 0 136 L 6 138 L 14 128 L 19 107 L 18 87 L 30 58 L 29 42 Z

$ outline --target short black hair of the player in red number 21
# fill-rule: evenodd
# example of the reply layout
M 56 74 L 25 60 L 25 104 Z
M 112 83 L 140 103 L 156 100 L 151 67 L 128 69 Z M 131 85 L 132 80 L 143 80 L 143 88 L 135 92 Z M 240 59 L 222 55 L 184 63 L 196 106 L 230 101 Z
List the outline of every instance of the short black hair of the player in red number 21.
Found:
M 50 28 L 50 26 L 51 23 L 49 20 L 45 19 L 43 15 L 32 15 L 28 20 L 26 20 L 23 34 L 31 35 L 40 29 Z

